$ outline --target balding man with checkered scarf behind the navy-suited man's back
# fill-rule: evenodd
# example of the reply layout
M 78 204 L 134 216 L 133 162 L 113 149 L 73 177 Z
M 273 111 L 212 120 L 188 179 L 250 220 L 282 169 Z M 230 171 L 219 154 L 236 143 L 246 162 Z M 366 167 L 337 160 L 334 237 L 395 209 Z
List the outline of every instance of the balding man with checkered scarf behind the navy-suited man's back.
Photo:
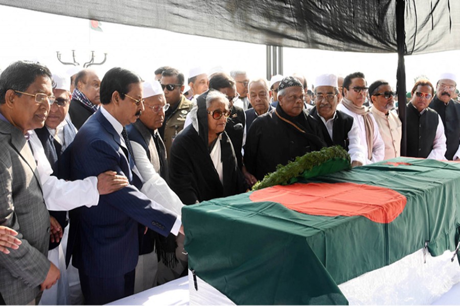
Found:
M 89 116 L 93 115 L 101 104 L 99 87 L 101 81 L 94 70 L 84 69 L 77 73 L 74 80 L 75 89 L 68 114 L 72 123 L 80 129 Z

